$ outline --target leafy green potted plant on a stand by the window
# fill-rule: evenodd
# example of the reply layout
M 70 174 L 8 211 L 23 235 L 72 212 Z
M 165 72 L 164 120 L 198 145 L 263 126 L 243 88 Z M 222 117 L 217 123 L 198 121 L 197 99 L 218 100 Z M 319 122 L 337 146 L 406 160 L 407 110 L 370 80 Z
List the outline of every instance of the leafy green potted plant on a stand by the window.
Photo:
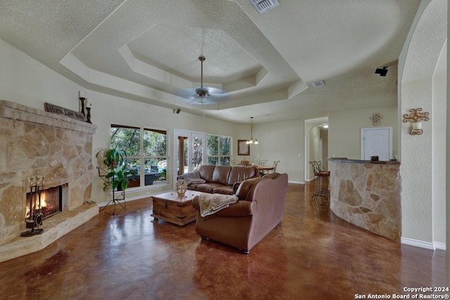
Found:
M 115 190 L 119 185 L 122 190 L 125 190 L 129 185 L 128 176 L 136 176 L 136 170 L 127 170 L 127 165 L 124 163 L 124 157 L 127 153 L 124 150 L 103 149 L 97 152 L 96 157 L 101 155 L 103 158 L 103 164 L 107 167 L 105 177 L 105 183 L 103 184 L 103 190 L 109 189 Z

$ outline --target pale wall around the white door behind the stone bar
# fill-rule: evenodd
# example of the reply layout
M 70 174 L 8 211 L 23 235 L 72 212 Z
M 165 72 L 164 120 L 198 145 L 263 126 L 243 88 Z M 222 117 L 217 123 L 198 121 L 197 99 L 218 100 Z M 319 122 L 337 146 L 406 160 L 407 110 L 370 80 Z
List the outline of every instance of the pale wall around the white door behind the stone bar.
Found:
M 397 107 L 384 106 L 361 110 L 329 112 L 328 114 L 328 156 L 361 159 L 361 128 L 375 128 L 371 119 L 379 112 L 383 119 L 380 127 L 392 126 L 392 155 L 397 149 Z

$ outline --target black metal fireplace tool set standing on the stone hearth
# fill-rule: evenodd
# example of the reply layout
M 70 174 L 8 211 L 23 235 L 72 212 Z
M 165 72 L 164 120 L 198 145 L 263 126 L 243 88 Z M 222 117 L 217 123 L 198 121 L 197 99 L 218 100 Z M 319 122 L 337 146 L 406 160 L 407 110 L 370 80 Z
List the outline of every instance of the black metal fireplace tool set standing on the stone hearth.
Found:
M 41 191 L 44 190 L 44 177 L 30 177 L 30 211 L 27 219 L 25 219 L 25 227 L 31 228 L 20 234 L 21 237 L 31 237 L 40 235 L 44 229 L 37 227 L 42 225 L 44 214 L 41 213 Z

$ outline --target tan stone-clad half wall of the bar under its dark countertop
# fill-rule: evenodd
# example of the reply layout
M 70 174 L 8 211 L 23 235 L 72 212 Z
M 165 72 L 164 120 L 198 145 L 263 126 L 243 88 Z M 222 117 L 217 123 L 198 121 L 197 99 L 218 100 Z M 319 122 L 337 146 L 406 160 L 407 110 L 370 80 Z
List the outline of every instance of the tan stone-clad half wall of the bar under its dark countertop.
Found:
M 401 238 L 400 165 L 330 159 L 330 209 L 383 237 Z

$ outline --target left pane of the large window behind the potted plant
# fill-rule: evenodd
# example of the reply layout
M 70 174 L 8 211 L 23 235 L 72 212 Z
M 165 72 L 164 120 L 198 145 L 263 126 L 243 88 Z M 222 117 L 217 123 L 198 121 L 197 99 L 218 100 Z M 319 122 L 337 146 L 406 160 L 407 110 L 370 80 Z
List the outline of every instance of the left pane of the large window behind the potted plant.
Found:
M 134 127 L 111 125 L 111 148 L 124 150 L 128 156 L 140 154 L 141 130 Z

